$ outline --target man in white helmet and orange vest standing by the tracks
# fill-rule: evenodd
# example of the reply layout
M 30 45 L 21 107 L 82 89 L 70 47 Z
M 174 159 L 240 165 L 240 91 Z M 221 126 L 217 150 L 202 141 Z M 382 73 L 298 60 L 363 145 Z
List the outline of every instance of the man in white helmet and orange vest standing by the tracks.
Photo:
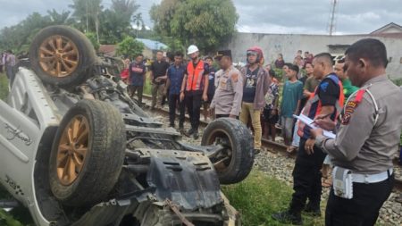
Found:
M 191 129 L 184 133 L 187 137 L 198 138 L 199 116 L 202 100 L 207 101 L 209 66 L 199 58 L 197 46 L 188 46 L 188 62 L 180 89 L 180 101 L 185 101 L 191 122 Z

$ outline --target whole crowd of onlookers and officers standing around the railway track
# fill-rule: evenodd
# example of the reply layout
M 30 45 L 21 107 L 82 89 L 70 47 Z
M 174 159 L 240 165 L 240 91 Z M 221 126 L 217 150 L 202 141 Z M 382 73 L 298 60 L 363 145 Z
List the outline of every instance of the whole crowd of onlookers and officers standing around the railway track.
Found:
M 205 118 L 209 114 L 242 121 L 254 134 L 255 155 L 263 148 L 262 138 L 275 141 L 281 128 L 289 154 L 297 152 L 295 192 L 289 209 L 272 217 L 301 224 L 303 211 L 321 215 L 322 186 L 330 187 L 333 175 L 336 185 L 325 212 L 326 225 L 373 225 L 392 188 L 392 159 L 402 129 L 401 92 L 385 75 L 385 46 L 373 38 L 362 39 L 336 62 L 328 53 L 302 53 L 297 51 L 293 63 L 279 54 L 264 65 L 263 50 L 254 46 L 247 49 L 247 65 L 236 68 L 230 50 L 202 59 L 192 45 L 188 63 L 180 52 L 167 61 L 158 52 L 150 66 L 151 107 L 161 107 L 167 96 L 170 126 L 175 128 L 179 111 L 179 130 L 195 139 L 202 106 Z M 142 60 L 138 54 L 135 62 L 127 62 L 122 76 L 130 84 L 130 96 L 137 91 L 140 105 L 146 80 Z M 275 73 L 279 70 L 282 80 Z M 314 120 L 314 126 L 296 121 L 298 114 Z M 322 129 L 335 138 L 323 136 Z

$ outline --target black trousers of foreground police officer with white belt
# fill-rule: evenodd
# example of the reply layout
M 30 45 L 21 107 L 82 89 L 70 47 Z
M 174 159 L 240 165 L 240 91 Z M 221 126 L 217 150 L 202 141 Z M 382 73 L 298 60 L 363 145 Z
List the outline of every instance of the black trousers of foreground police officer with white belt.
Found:
M 394 175 L 378 183 L 353 183 L 353 198 L 337 197 L 331 189 L 325 210 L 327 226 L 373 226 L 394 187 Z

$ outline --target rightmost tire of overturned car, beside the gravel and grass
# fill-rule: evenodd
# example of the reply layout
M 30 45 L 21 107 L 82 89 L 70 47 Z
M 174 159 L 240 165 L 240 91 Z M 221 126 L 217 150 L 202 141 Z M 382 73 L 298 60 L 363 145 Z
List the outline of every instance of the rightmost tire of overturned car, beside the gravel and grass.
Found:
M 227 148 L 210 157 L 222 184 L 238 183 L 247 178 L 254 163 L 253 137 L 239 120 L 221 118 L 204 130 L 203 146 L 222 145 Z M 225 158 L 229 158 L 223 161 Z

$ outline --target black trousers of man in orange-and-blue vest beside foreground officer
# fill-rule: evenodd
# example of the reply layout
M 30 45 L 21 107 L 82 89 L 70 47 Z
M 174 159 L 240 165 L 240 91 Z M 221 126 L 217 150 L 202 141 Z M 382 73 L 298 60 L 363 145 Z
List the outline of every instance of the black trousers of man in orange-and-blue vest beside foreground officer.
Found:
M 295 168 L 293 169 L 293 189 L 295 192 L 290 203 L 290 212 L 292 213 L 301 213 L 305 208 L 307 198 L 311 207 L 320 207 L 322 195 L 321 168 L 326 154 L 314 146 L 314 154 L 307 155 L 305 144 L 306 139 L 300 138 Z

